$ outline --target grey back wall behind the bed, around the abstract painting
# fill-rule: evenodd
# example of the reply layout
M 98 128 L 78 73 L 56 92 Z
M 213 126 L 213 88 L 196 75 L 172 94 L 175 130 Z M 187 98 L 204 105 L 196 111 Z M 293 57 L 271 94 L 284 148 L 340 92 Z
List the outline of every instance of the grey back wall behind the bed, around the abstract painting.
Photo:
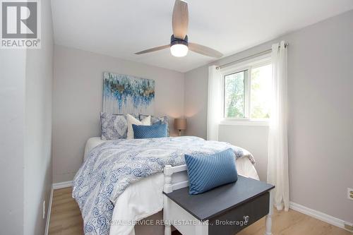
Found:
M 85 142 L 100 136 L 103 72 L 155 80 L 155 115 L 184 114 L 184 74 L 78 49 L 55 46 L 53 180 L 71 181 L 83 162 Z M 176 134 L 171 128 L 172 134 Z

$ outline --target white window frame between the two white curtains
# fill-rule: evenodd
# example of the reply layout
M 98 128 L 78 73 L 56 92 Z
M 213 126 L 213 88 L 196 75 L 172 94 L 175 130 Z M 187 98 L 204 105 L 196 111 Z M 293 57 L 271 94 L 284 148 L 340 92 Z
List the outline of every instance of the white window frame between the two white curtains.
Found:
M 251 119 L 251 69 L 272 64 L 270 54 L 239 62 L 220 69 L 222 78 L 222 121 L 224 125 L 268 126 L 268 119 Z M 228 118 L 225 115 L 225 76 L 247 71 L 244 85 L 244 118 Z

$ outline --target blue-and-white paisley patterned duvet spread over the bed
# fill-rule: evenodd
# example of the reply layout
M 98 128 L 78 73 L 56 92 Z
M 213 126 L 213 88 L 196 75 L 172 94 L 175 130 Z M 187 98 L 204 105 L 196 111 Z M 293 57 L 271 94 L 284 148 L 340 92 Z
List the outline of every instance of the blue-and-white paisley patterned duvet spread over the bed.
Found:
M 240 147 L 192 136 L 124 139 L 98 145 L 73 180 L 73 198 L 80 207 L 85 234 L 109 234 L 116 199 L 131 183 L 163 171 L 166 164 L 185 164 L 185 154 L 212 154 L 229 147 L 237 158 L 249 157 L 255 164 L 253 156 Z

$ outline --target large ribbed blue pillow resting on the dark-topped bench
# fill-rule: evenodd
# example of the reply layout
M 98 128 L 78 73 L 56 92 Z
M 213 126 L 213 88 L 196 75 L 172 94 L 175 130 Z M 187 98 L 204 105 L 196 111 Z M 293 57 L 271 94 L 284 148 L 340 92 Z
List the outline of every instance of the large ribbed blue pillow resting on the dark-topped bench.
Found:
M 213 155 L 185 155 L 189 193 L 199 194 L 237 181 L 234 152 L 231 148 Z

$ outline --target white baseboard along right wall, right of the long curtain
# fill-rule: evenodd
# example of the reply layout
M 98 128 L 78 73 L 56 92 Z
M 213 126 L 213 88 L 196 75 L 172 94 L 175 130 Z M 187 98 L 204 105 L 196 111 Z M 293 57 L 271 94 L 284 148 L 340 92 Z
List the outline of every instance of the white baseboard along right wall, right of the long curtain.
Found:
M 342 229 L 345 229 L 345 221 L 342 219 L 338 219 L 336 217 L 333 217 L 331 215 L 327 215 L 323 212 L 319 212 L 317 210 L 313 210 L 309 207 L 305 207 L 304 205 L 299 205 L 297 203 L 290 202 L 289 203 L 289 208 L 292 210 L 296 210 L 297 212 L 301 212 L 305 215 L 309 215 L 310 217 L 313 217 L 315 219 L 319 219 L 323 222 L 326 222 L 328 224 L 332 224 L 336 227 L 340 227 Z M 347 229 L 345 229 L 347 230 Z M 349 231 L 349 230 L 347 230 Z

